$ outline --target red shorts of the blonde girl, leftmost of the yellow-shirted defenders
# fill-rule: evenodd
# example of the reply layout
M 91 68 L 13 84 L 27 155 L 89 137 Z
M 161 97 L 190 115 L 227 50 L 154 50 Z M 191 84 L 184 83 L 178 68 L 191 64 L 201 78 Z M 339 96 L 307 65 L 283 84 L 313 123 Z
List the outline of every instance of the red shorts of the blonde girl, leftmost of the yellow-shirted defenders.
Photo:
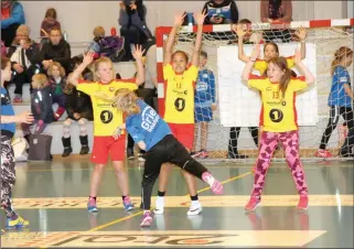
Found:
M 90 160 L 96 164 L 106 164 L 108 155 L 111 161 L 124 161 L 126 152 L 126 134 L 120 136 L 118 140 L 114 137 L 94 137 L 94 148 Z

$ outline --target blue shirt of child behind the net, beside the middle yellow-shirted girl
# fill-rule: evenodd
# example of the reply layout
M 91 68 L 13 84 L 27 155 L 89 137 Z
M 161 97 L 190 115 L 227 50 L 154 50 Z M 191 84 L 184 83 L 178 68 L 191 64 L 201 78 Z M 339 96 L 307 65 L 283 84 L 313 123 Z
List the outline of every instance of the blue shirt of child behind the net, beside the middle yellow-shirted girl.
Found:
M 215 76 L 210 69 L 201 69 L 194 94 L 195 107 L 211 107 L 215 102 Z

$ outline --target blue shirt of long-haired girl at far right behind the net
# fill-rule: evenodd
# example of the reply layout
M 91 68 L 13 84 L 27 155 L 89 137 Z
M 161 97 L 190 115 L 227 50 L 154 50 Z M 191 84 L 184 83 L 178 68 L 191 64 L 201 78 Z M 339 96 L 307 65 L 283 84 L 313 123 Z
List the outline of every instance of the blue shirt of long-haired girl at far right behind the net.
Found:
M 352 99 L 345 94 L 344 84 L 351 86 L 351 76 L 345 67 L 336 66 L 329 96 L 329 106 L 352 107 Z

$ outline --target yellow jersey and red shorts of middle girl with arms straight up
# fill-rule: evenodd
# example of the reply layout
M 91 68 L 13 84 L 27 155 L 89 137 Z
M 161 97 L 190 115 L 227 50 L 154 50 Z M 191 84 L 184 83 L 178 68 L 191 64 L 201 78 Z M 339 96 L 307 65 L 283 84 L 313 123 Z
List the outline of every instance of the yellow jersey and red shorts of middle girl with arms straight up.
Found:
M 163 66 L 165 111 L 163 119 L 173 136 L 189 150 L 194 140 L 194 87 L 199 68 L 189 66 L 183 74 L 174 73 L 172 65 Z

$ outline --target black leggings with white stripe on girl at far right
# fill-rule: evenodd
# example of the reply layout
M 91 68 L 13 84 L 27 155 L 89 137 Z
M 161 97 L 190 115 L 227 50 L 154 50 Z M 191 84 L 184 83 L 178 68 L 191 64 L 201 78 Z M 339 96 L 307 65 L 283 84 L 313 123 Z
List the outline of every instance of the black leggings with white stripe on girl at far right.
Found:
M 328 142 L 331 138 L 332 131 L 336 128 L 337 122 L 340 121 L 340 117 L 343 117 L 346 121 L 346 126 L 348 129 L 347 137 L 345 142 L 341 149 L 341 151 L 350 151 L 354 145 L 354 119 L 353 119 L 353 109 L 350 107 L 331 107 L 330 110 L 330 120 L 325 128 L 325 131 L 321 139 L 320 149 L 325 150 Z

